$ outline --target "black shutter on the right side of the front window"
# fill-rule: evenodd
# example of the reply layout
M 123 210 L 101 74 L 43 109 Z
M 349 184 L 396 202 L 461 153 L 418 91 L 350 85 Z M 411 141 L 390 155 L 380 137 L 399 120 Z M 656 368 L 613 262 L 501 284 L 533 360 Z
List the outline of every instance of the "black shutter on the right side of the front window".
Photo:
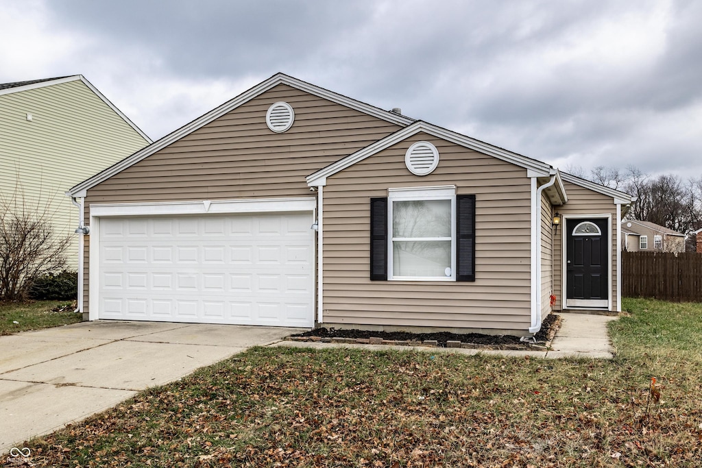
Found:
M 475 195 L 456 195 L 456 281 L 475 281 Z

